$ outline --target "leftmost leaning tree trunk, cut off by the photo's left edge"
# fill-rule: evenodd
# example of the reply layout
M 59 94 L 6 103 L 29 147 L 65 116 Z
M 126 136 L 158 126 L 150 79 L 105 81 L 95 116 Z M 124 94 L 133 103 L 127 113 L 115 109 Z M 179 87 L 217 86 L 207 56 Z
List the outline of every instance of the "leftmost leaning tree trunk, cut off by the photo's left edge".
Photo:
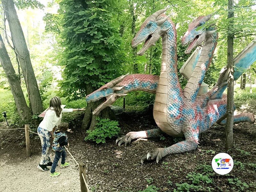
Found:
M 18 113 L 22 120 L 25 120 L 26 122 L 28 122 L 31 115 L 30 110 L 28 108 L 23 91 L 20 86 L 19 76 L 17 76 L 15 73 L 10 57 L 4 46 L 4 41 L 2 39 L 1 34 L 0 34 L 0 62 L 4 68 L 4 72 L 9 81 Z

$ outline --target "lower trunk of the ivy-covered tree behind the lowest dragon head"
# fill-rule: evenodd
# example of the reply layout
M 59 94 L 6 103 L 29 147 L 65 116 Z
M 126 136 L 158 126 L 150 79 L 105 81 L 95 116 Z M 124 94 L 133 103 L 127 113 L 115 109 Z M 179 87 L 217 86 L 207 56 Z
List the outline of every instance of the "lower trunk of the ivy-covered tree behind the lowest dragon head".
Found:
M 85 90 L 85 93 L 86 95 L 89 95 L 90 93 L 92 93 L 94 90 L 92 88 L 91 85 L 87 85 L 86 86 L 86 90 Z M 82 121 L 82 129 L 84 130 L 94 130 L 95 129 L 95 125 L 97 123 L 97 120 L 96 120 L 96 117 L 95 115 L 92 115 L 92 111 L 100 105 L 100 103 L 102 103 L 104 100 L 99 100 L 99 101 L 95 101 L 95 102 L 90 102 L 90 103 L 87 103 L 87 108 L 85 110 L 85 114 L 84 114 L 84 118 L 83 118 L 83 121 Z M 105 109 L 103 109 L 100 114 L 98 115 L 100 116 L 101 118 L 104 118 L 104 119 L 111 119 L 111 120 L 116 120 L 116 116 L 114 115 L 114 113 L 112 112 L 112 110 L 107 107 Z

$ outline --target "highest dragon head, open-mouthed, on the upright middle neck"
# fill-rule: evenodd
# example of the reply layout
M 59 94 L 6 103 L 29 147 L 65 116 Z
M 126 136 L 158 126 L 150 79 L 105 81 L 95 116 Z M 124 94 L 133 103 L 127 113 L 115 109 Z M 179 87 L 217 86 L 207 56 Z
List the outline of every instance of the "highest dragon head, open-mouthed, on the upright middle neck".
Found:
M 143 55 L 149 47 L 152 45 L 155 46 L 155 43 L 160 36 L 169 30 L 170 27 L 164 28 L 165 26 L 163 25 L 163 23 L 168 19 L 168 16 L 162 14 L 166 10 L 167 8 L 153 13 L 140 26 L 140 30 L 132 39 L 132 47 L 137 47 L 139 44 L 144 43 L 142 48 L 137 52 L 137 55 Z

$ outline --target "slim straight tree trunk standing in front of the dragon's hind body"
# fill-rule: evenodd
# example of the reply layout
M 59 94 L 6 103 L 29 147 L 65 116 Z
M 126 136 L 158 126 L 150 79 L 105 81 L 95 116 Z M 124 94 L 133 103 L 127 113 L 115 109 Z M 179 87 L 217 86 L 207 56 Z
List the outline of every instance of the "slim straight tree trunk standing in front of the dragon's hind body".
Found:
M 228 0 L 228 18 L 234 17 L 234 0 Z M 228 21 L 228 102 L 226 123 L 226 149 L 234 147 L 233 124 L 234 124 L 234 33 L 233 21 Z

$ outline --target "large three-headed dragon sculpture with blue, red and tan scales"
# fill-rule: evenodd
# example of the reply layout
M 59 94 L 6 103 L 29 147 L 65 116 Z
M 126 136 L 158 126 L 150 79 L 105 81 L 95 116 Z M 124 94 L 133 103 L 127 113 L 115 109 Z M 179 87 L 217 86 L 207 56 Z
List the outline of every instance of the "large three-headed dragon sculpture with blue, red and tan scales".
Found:
M 93 114 L 97 115 L 103 108 L 110 106 L 117 98 L 125 96 L 128 92 L 140 90 L 156 94 L 153 116 L 159 128 L 129 132 L 125 136 L 117 138 L 116 142 L 119 146 L 123 143 L 126 146 L 131 140 L 155 138 L 162 132 L 173 137 L 185 136 L 185 140 L 167 148 L 157 148 L 153 152 L 148 152 L 141 158 L 142 164 L 145 160 L 150 159 L 156 159 L 158 163 L 166 155 L 196 149 L 199 134 L 209 129 L 215 122 L 225 124 L 226 118 L 227 96 L 223 94 L 227 88 L 226 68 L 221 70 L 217 83 L 209 92 L 198 95 L 217 45 L 216 29 L 202 27 L 212 15 L 200 16 L 193 20 L 182 38 L 181 44 L 190 43 L 186 53 L 190 53 L 193 48 L 204 42 L 194 71 L 186 87 L 182 90 L 177 73 L 176 29 L 172 20 L 164 14 L 165 11 L 166 9 L 159 10 L 149 16 L 132 40 L 132 47 L 144 43 L 137 53 L 143 55 L 150 46 L 155 45 L 156 41 L 162 37 L 160 76 L 127 74 L 112 80 L 86 96 L 88 102 L 100 98 L 106 99 L 93 111 Z M 198 27 L 200 27 L 199 30 Z M 252 50 L 248 48 L 246 54 L 242 53 L 243 58 L 247 57 L 247 61 L 244 62 L 243 58 L 238 58 L 235 67 L 246 69 L 256 60 L 256 46 L 253 46 Z M 248 62 L 248 60 L 250 61 Z M 241 70 L 236 70 L 234 73 L 235 80 L 242 73 Z M 244 113 L 234 116 L 234 123 L 240 122 L 254 123 L 253 114 Z

